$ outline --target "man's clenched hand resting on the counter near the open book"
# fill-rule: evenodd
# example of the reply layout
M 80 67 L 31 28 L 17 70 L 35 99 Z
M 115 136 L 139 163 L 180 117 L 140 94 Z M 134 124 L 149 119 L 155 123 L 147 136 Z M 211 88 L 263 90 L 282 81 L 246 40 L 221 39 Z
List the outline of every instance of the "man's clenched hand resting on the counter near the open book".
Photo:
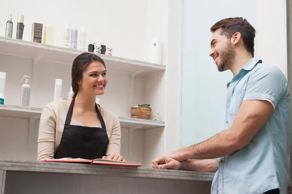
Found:
M 181 168 L 182 162 L 176 161 L 167 156 L 158 157 L 152 161 L 152 168 L 159 169 L 173 169 L 179 170 Z

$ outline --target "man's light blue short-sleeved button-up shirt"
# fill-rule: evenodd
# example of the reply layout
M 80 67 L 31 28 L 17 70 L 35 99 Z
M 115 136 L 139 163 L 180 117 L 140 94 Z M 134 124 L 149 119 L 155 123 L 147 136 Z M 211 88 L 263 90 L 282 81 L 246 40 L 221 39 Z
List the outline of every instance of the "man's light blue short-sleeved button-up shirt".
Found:
M 263 99 L 274 104 L 274 112 L 252 141 L 235 153 L 217 159 L 218 171 L 211 194 L 263 194 L 280 189 L 286 194 L 288 154 L 291 143 L 291 96 L 280 69 L 251 59 L 227 84 L 225 120 L 222 130 L 232 126 L 245 99 Z

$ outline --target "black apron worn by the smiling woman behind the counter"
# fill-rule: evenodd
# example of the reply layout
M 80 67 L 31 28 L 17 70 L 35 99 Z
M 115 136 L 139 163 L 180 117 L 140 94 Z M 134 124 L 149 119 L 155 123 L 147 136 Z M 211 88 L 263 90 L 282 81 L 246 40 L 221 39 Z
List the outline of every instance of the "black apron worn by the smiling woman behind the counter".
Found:
M 72 99 L 70 104 L 61 142 L 54 158 L 100 159 L 105 156 L 109 144 L 106 125 L 101 113 L 95 104 L 95 109 L 102 128 L 70 125 L 74 101 L 75 98 Z

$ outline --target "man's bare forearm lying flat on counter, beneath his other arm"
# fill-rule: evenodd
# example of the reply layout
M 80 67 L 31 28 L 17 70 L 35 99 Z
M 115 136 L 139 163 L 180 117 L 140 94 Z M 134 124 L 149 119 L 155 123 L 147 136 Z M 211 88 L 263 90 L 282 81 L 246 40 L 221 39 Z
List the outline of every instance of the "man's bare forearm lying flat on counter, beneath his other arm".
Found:
M 186 160 L 181 163 L 180 170 L 215 173 L 218 170 L 216 159 Z

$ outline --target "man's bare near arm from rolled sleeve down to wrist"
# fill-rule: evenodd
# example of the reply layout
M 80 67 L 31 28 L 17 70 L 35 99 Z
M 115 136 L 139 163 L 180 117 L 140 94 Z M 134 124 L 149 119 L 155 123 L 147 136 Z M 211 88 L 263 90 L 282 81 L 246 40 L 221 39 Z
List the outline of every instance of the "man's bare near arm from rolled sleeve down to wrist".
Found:
M 184 147 L 168 157 L 178 161 L 214 159 L 230 155 L 247 146 L 268 121 L 274 107 L 266 100 L 244 100 L 233 125 L 204 142 Z

